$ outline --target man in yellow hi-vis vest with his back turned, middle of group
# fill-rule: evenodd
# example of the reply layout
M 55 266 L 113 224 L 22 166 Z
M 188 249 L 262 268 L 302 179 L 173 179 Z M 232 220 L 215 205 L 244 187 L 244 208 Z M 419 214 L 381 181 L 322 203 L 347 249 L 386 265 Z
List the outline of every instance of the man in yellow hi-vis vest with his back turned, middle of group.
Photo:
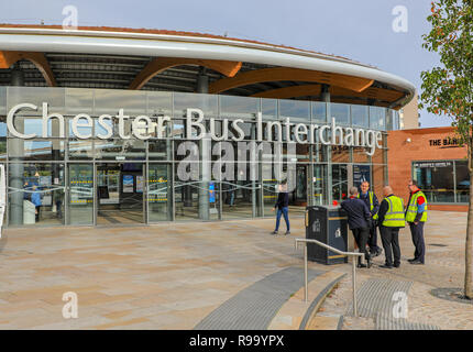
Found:
M 383 242 L 385 263 L 384 268 L 400 266 L 399 229 L 406 226 L 403 199 L 395 196 L 393 188 L 383 188 L 384 199 L 380 205 L 378 223 L 381 241 Z M 394 255 L 394 261 L 393 261 Z

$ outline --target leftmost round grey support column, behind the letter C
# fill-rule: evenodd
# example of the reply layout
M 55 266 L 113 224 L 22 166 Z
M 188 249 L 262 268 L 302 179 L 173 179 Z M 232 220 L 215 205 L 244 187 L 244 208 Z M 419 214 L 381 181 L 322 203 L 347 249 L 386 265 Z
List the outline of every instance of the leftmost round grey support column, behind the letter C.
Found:
M 24 86 L 24 73 L 16 66 L 11 72 L 11 85 Z M 16 130 L 21 133 L 24 132 L 24 121 L 21 119 L 15 120 Z M 8 153 L 10 154 L 10 177 L 9 186 L 15 189 L 23 189 L 23 174 L 24 165 L 20 164 L 24 154 L 24 141 L 21 139 L 10 139 L 8 143 Z M 10 221 L 9 224 L 22 226 L 23 224 L 23 193 L 15 191 L 10 196 Z

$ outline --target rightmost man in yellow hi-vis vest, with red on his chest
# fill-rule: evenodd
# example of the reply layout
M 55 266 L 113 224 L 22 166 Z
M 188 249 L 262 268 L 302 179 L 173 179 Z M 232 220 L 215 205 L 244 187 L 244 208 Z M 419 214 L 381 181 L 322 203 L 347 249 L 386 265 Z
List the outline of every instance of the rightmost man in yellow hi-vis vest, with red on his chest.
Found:
M 406 209 L 406 221 L 410 228 L 413 243 L 416 248 L 414 258 L 408 260 L 410 264 L 424 264 L 426 255 L 426 244 L 424 242 L 424 224 L 427 221 L 427 197 L 417 187 L 416 180 L 409 180 L 409 201 Z

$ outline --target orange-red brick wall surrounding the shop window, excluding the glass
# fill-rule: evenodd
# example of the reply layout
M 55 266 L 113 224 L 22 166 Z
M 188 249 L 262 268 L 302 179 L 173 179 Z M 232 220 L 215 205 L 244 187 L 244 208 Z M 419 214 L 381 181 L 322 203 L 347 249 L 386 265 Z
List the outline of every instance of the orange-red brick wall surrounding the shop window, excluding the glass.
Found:
M 453 128 L 414 129 L 391 131 L 387 135 L 387 164 L 389 186 L 394 193 L 409 199 L 407 183 L 411 178 L 413 161 L 462 160 L 466 157 L 466 147 L 447 147 L 443 140 L 454 138 Z M 410 139 L 410 143 L 407 142 Z M 440 140 L 440 145 L 430 145 Z M 382 195 L 381 195 L 382 196 Z M 465 206 L 433 206 L 430 209 L 466 211 Z

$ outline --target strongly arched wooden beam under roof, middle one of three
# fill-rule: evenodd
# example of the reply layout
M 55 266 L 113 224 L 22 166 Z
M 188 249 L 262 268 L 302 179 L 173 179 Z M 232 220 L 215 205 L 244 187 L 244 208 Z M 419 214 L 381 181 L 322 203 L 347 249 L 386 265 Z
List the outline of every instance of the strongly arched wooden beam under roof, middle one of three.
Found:
M 180 65 L 197 65 L 211 68 L 227 77 L 233 77 L 240 70 L 241 62 L 228 62 L 221 59 L 199 59 L 184 57 L 157 57 L 150 62 L 143 70 L 138 74 L 130 85 L 130 89 L 141 89 L 150 79 L 157 74 Z

